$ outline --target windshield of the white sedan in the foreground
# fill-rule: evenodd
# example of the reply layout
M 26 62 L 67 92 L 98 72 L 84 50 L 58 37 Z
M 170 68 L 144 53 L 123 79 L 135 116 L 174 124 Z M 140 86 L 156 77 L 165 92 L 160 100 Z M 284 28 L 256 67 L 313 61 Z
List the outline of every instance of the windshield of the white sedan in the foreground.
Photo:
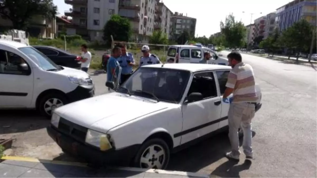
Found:
M 189 77 L 190 72 L 185 70 L 141 67 L 117 91 L 179 103 Z

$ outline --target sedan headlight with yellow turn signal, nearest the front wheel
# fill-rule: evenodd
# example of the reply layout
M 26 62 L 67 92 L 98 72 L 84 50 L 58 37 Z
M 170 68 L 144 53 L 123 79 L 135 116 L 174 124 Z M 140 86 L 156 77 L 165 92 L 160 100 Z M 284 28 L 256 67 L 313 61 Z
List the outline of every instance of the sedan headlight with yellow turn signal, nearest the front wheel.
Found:
M 87 130 L 85 142 L 106 151 L 112 148 L 108 135 L 94 130 Z

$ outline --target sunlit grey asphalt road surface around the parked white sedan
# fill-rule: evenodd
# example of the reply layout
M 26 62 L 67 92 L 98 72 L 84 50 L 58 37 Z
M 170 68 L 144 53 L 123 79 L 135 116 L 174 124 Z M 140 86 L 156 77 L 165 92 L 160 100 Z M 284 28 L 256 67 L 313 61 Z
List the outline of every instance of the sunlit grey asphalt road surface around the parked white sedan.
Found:
M 222 52 L 225 56 L 229 52 Z M 168 169 L 200 172 L 220 177 L 317 177 L 317 69 L 242 54 L 254 67 L 262 89 L 262 109 L 256 113 L 253 129 L 254 160 L 238 164 L 228 161 L 226 134 L 211 137 L 171 157 Z M 317 68 L 317 67 L 316 67 Z M 92 73 L 96 94 L 105 93 L 105 74 Z M 34 112 L 2 112 L 0 137 L 16 138 L 13 155 L 73 161 L 47 136 L 49 121 Z M 30 131 L 31 130 L 31 131 Z M 78 160 L 75 160 L 78 161 Z

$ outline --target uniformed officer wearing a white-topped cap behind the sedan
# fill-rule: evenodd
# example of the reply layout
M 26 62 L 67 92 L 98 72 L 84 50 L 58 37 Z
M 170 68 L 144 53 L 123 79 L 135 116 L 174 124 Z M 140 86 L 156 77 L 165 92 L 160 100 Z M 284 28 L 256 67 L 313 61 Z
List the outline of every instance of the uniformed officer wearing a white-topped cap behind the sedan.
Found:
M 140 58 L 140 64 L 141 66 L 151 65 L 151 64 L 162 64 L 162 62 L 159 60 L 159 58 L 154 55 L 150 54 L 150 48 L 147 45 L 142 46 L 141 51 L 143 53 L 143 56 Z M 141 81 L 142 81 L 142 91 L 151 92 L 151 89 L 153 88 L 152 85 L 154 84 L 151 80 L 152 77 L 155 75 L 155 73 L 142 73 L 141 75 Z

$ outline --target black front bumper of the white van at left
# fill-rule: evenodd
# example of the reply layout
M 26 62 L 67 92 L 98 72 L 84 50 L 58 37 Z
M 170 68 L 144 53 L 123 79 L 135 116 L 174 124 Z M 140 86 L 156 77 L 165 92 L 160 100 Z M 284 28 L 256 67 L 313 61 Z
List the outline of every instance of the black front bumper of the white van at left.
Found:
M 95 95 L 95 86 L 94 85 L 88 85 L 83 86 L 79 85 L 77 88 L 69 93 L 66 93 L 66 96 L 68 97 L 70 102 L 79 101 L 82 99 L 87 99 L 94 97 Z

